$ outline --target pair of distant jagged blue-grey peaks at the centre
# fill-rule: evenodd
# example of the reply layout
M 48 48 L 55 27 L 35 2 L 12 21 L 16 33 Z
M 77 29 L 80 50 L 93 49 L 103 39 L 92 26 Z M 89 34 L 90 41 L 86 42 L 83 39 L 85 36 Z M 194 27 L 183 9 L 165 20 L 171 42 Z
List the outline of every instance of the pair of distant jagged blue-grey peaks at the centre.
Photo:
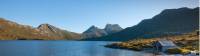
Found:
M 121 31 L 122 28 L 118 24 L 107 24 L 104 29 L 100 29 L 96 26 L 91 26 L 85 32 L 82 33 L 83 39 L 98 38 Z

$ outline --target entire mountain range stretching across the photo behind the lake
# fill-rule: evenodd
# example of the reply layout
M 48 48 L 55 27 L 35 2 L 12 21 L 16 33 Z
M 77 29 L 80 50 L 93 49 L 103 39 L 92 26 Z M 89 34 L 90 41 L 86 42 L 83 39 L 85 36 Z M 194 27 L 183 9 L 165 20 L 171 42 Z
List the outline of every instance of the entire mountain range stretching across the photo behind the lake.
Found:
M 0 40 L 126 41 L 184 34 L 198 28 L 199 7 L 166 9 L 150 19 L 125 29 L 118 24 L 107 24 L 104 29 L 93 25 L 83 33 L 63 30 L 48 23 L 32 27 L 0 18 Z

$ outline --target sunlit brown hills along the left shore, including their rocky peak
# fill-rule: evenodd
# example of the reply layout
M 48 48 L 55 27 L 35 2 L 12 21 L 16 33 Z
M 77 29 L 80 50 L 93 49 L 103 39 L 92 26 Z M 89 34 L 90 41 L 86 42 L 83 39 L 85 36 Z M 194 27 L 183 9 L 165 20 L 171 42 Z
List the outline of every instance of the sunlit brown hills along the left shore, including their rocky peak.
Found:
M 0 40 L 71 40 L 80 39 L 80 34 L 61 30 L 49 24 L 38 28 L 21 25 L 0 18 Z

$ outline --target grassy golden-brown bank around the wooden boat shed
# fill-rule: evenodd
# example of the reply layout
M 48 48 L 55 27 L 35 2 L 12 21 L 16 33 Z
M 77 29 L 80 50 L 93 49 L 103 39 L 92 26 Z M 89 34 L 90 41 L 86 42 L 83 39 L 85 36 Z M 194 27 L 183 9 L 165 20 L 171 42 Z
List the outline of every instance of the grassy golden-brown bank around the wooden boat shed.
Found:
M 173 41 L 177 46 L 179 46 L 181 50 L 181 52 L 179 53 L 188 53 L 189 51 L 199 51 L 199 37 L 196 32 L 191 32 L 183 35 L 168 36 L 168 37 L 134 39 L 126 42 L 112 43 L 106 45 L 106 47 L 142 51 L 146 48 L 152 49 L 153 48 L 152 43 L 162 38 L 168 38 L 171 41 Z

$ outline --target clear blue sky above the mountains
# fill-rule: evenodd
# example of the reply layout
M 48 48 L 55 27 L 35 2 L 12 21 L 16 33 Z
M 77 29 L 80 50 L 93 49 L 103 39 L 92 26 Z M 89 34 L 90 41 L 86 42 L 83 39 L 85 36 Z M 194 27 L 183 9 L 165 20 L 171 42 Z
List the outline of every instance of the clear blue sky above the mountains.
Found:
M 198 7 L 198 0 L 0 0 L 0 17 L 37 27 L 49 23 L 81 33 L 107 23 L 131 27 L 164 9 Z

